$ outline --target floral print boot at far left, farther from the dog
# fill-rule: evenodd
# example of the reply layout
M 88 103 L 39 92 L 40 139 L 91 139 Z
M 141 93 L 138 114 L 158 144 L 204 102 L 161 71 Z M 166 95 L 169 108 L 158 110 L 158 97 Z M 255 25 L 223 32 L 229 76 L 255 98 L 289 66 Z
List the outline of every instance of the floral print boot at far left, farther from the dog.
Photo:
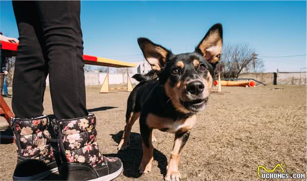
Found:
M 17 165 L 14 181 L 35 181 L 58 171 L 51 136 L 47 128 L 49 118 L 11 119 L 17 145 Z

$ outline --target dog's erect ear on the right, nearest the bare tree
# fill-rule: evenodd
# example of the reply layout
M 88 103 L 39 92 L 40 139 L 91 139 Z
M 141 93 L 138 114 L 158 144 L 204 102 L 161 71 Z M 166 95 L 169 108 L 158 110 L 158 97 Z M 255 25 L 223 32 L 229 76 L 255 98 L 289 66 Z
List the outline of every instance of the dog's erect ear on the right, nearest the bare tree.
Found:
M 220 60 L 223 44 L 223 28 L 222 24 L 213 25 L 201 40 L 199 45 L 195 48 L 204 56 L 211 64 L 216 64 Z

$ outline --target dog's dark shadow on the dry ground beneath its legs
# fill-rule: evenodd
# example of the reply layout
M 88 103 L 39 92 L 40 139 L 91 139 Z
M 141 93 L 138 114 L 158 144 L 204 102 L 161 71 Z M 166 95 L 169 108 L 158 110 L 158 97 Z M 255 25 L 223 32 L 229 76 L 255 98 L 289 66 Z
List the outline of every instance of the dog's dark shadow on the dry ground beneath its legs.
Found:
M 116 134 L 110 134 L 112 139 L 119 144 L 123 131 L 120 131 Z M 138 167 L 141 163 L 142 159 L 142 141 L 141 135 L 136 132 L 130 133 L 130 147 L 124 151 L 118 151 L 117 154 L 107 154 L 105 156 L 113 156 L 118 157 L 123 162 L 124 166 L 124 176 L 138 178 L 141 174 L 138 171 Z M 167 158 L 166 156 L 160 152 L 159 150 L 153 148 L 153 160 L 158 162 L 158 168 L 160 169 L 160 173 L 165 176 L 166 174 L 166 166 L 167 166 Z

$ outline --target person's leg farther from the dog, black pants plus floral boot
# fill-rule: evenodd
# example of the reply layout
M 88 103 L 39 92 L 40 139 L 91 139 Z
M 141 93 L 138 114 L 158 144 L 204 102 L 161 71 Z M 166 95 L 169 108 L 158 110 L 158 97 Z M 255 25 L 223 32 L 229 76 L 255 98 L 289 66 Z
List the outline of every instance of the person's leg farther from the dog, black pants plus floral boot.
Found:
M 32 1 L 13 1 L 13 9 L 19 30 L 12 100 L 17 118 L 11 119 L 18 153 L 13 180 L 42 180 L 58 171 L 50 143 L 49 118 L 42 116 L 48 73 L 42 32 Z

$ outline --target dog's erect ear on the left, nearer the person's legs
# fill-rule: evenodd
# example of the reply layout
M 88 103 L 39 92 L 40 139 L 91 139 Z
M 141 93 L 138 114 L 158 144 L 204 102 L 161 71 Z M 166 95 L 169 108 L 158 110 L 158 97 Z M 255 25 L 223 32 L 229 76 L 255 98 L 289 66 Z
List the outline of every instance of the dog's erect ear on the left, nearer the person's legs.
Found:
M 152 66 L 152 69 L 157 71 L 161 70 L 161 67 L 165 65 L 166 57 L 170 51 L 160 45 L 154 44 L 147 38 L 138 38 L 137 43 L 142 49 L 145 59 Z

